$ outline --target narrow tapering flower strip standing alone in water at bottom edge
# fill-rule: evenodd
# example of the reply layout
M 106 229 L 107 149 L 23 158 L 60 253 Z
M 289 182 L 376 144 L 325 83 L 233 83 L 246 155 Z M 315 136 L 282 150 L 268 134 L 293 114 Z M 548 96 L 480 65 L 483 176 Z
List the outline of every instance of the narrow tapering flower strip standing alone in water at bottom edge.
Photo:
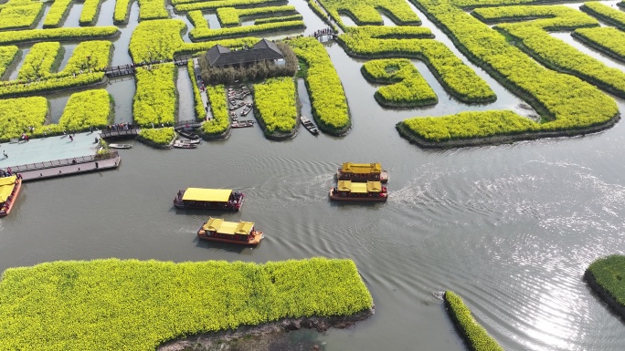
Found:
M 464 305 L 459 295 L 447 290 L 443 298 L 448 315 L 471 350 L 503 351 L 503 347 L 497 344 L 497 341 L 488 335 L 486 329 L 475 321 L 471 315 L 471 310 L 467 305 Z

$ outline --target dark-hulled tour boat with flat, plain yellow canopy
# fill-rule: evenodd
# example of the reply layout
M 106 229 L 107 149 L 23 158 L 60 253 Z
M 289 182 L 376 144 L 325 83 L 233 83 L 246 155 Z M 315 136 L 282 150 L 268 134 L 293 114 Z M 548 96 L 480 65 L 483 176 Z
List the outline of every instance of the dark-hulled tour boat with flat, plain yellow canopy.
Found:
M 188 188 L 178 191 L 174 206 L 177 209 L 238 211 L 244 197 L 242 192 L 231 189 Z

